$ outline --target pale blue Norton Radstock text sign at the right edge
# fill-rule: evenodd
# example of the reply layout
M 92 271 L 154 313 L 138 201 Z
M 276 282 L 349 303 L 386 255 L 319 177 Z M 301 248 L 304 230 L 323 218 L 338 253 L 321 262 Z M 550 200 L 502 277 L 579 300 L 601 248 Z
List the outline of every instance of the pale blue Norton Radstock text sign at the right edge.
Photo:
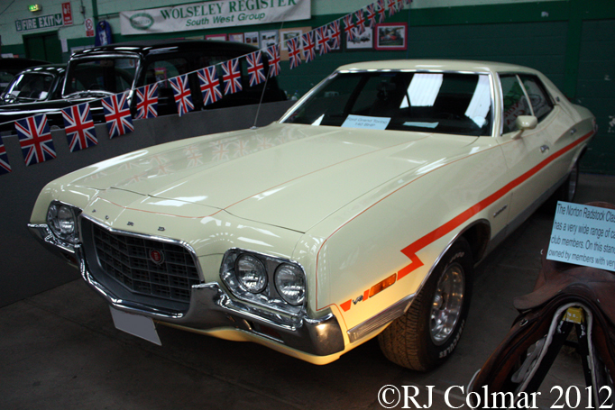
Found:
M 615 209 L 558 202 L 546 259 L 615 271 Z

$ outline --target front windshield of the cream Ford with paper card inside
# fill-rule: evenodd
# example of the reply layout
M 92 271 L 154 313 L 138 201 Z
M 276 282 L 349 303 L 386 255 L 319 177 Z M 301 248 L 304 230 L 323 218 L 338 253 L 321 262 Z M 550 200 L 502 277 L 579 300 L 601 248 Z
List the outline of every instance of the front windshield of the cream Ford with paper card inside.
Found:
M 282 122 L 491 135 L 490 84 L 486 74 L 336 73 Z

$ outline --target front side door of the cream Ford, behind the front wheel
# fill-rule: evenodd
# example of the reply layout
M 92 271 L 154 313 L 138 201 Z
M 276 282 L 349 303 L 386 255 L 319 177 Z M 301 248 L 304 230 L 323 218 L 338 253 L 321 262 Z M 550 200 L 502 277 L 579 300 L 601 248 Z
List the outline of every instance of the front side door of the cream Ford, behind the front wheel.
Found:
M 536 128 L 520 131 L 516 124 L 519 115 L 535 114 L 528 92 L 519 75 L 500 74 L 499 77 L 503 103 L 500 105 L 502 131 L 499 140 L 512 184 L 509 224 L 514 229 L 536 210 L 539 199 L 547 195 L 556 181 L 546 178 L 545 172 L 551 154 L 549 122 L 545 121 L 549 113 L 543 113 Z

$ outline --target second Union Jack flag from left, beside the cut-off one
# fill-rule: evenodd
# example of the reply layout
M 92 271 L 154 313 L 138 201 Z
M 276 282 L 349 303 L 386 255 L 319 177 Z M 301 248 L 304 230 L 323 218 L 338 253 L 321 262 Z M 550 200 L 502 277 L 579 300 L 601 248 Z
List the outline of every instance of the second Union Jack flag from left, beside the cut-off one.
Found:
M 56 158 L 47 115 L 40 114 L 17 120 L 15 129 L 19 136 L 19 144 L 22 146 L 26 167 Z

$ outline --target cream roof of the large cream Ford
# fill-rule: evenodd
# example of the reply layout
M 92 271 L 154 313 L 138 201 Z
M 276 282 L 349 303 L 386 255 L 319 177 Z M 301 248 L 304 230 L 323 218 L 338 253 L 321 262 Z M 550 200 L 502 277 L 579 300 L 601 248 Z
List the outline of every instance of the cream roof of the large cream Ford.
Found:
M 410 69 L 419 71 L 454 71 L 472 73 L 524 72 L 536 74 L 537 70 L 516 64 L 494 61 L 473 61 L 456 59 L 391 59 L 383 61 L 368 61 L 346 64 L 337 71 L 368 70 L 368 69 Z

